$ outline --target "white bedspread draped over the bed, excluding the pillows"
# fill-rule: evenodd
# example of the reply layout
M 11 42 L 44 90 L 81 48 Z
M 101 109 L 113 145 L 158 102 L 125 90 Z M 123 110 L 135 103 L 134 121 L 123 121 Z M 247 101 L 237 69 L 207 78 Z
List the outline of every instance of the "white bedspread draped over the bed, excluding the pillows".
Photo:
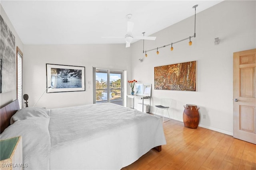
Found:
M 50 169 L 121 169 L 165 145 L 161 119 L 102 103 L 50 110 Z

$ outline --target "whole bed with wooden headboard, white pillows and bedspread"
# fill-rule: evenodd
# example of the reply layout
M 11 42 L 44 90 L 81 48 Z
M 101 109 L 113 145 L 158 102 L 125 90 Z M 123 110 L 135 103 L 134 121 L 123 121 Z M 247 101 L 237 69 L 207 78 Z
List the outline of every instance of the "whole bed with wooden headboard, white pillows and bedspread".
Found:
M 111 103 L 18 109 L 16 103 L 1 109 L 1 132 L 7 128 L 0 138 L 22 136 L 24 169 L 121 169 L 166 144 L 161 119 L 135 109 Z

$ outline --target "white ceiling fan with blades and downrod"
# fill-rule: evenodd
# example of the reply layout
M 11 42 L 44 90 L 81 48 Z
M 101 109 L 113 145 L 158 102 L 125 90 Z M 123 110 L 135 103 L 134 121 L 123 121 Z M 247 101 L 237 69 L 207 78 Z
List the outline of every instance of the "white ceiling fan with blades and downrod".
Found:
M 124 36 L 124 40 L 126 41 L 126 47 L 130 47 L 130 43 L 132 42 L 133 39 L 146 39 L 146 40 L 155 40 L 156 37 L 145 37 L 143 32 L 143 36 L 133 36 L 132 35 L 132 30 L 133 30 L 133 26 L 134 23 L 130 21 L 132 17 L 132 14 L 128 14 L 126 15 L 127 18 L 127 33 Z M 123 38 L 123 37 L 102 37 L 102 38 Z

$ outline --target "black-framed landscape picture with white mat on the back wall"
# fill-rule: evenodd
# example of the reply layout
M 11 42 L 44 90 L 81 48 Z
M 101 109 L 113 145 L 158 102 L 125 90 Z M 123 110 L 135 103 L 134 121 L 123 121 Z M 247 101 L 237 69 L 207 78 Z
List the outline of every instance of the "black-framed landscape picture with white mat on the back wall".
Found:
M 85 91 L 85 67 L 46 64 L 46 80 L 47 93 Z

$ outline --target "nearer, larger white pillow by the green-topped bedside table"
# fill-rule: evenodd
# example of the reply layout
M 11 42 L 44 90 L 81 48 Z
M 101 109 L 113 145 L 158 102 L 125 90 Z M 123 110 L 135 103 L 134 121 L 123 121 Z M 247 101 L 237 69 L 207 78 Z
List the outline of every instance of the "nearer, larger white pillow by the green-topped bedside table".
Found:
M 50 169 L 50 118 L 31 117 L 19 120 L 7 127 L 0 135 L 2 139 L 22 136 L 23 169 Z

